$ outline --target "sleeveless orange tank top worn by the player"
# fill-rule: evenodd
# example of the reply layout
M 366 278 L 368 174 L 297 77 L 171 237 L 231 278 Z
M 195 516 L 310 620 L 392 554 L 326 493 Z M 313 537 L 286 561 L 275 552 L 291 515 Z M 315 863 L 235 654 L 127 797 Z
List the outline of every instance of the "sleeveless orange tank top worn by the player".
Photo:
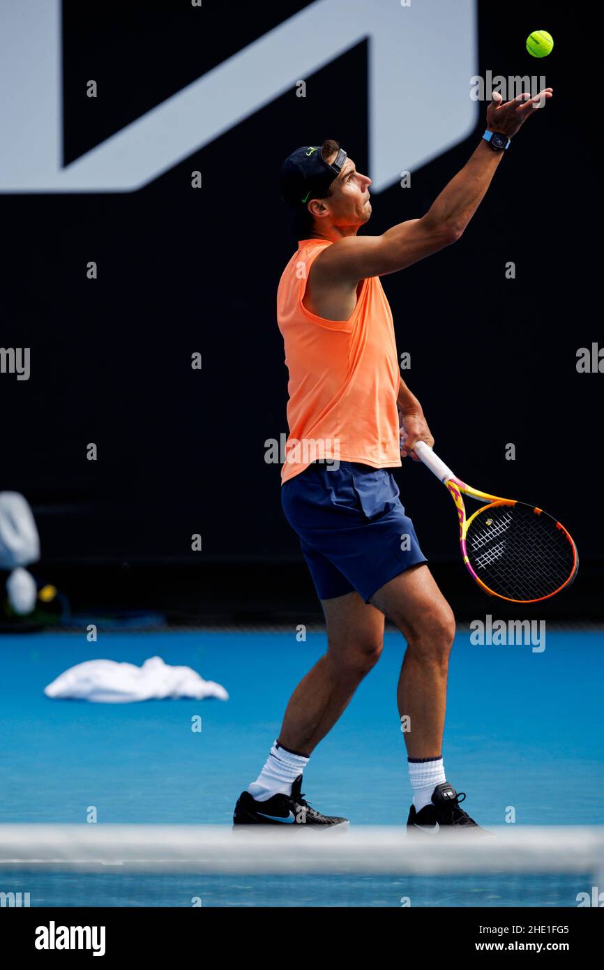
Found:
M 312 262 L 328 245 L 302 240 L 277 290 L 289 371 L 282 483 L 322 459 L 400 466 L 397 343 L 379 277 L 363 280 L 348 320 L 325 320 L 302 304 Z

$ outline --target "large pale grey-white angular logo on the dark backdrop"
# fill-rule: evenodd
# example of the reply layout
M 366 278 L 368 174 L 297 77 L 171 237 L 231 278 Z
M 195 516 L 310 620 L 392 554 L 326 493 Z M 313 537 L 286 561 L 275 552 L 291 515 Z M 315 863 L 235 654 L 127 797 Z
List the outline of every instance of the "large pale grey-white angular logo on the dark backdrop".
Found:
M 317 0 L 63 167 L 60 0 L 5 3 L 0 192 L 141 188 L 366 38 L 369 172 L 380 191 L 474 128 L 476 28 L 475 0 Z M 342 98 L 347 84 L 342 75 Z M 300 141 L 323 134 L 301 127 Z

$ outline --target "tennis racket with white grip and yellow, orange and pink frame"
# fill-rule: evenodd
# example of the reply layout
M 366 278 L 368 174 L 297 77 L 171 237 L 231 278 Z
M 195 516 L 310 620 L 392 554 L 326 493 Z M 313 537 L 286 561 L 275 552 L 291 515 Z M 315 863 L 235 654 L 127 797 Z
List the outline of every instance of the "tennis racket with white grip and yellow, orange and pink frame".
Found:
M 485 593 L 535 603 L 572 583 L 579 568 L 577 546 L 556 519 L 541 508 L 466 485 L 425 441 L 417 441 L 413 451 L 451 493 L 460 519 L 463 562 Z M 462 495 L 485 505 L 467 518 Z

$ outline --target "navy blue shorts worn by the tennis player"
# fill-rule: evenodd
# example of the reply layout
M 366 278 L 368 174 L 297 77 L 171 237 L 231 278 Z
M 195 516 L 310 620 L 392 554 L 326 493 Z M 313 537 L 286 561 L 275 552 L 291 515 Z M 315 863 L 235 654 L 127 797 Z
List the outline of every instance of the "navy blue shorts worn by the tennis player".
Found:
M 389 469 L 310 465 L 281 487 L 320 599 L 357 593 L 366 602 L 410 566 L 428 562 Z

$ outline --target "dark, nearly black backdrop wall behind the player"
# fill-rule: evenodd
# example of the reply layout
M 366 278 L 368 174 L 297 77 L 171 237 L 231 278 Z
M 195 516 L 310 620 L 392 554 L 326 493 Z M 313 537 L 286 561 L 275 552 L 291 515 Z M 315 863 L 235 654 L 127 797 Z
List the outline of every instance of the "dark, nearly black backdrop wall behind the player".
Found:
M 205 4 L 191 17 L 188 2 L 92 10 L 68 0 L 65 161 L 303 6 Z M 597 449 L 604 377 L 576 371 L 577 348 L 601 335 L 586 24 L 551 3 L 508 4 L 504 16 L 481 3 L 479 14 L 480 73 L 545 72 L 554 102 L 512 146 L 461 242 L 384 286 L 437 450 L 478 487 L 562 519 L 593 582 L 602 529 L 586 497 L 601 479 L 582 454 Z M 535 26 L 556 39 L 544 64 L 524 51 Z M 84 96 L 89 78 L 103 97 Z M 227 589 L 233 602 L 257 564 L 298 568 L 279 468 L 264 460 L 265 439 L 286 430 L 274 299 L 293 246 L 277 173 L 294 147 L 327 137 L 366 171 L 366 80 L 360 44 L 313 77 L 295 111 L 290 92 L 138 192 L 0 197 L 3 344 L 32 348 L 31 379 L 2 379 L 1 486 L 33 503 L 46 566 L 193 564 L 190 535 L 202 533 L 204 564 L 250 564 Z M 411 189 L 375 196 L 371 232 L 428 209 L 483 118 L 484 106 L 472 136 L 414 173 Z M 199 192 L 193 169 L 203 172 Z M 99 265 L 94 282 L 88 260 Z M 508 260 L 514 281 L 504 278 Z M 194 351 L 202 372 L 190 369 Z M 97 462 L 86 461 L 89 441 Z M 504 458 L 510 441 L 515 462 Z M 404 464 L 401 494 L 422 544 L 433 561 L 453 562 L 449 500 L 426 469 Z M 582 611 L 597 606 L 591 589 Z M 578 595 L 568 594 L 569 612 Z

